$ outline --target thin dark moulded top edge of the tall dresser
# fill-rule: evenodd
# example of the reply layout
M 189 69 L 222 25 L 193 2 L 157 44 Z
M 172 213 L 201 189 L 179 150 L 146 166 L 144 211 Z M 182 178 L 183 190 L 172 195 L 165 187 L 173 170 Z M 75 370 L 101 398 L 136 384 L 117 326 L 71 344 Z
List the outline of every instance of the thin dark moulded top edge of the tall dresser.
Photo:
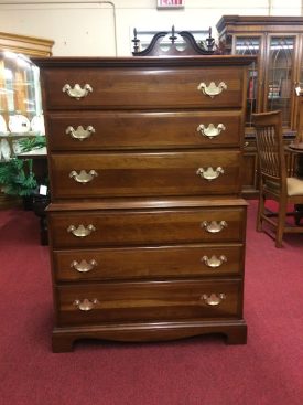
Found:
M 132 56 L 132 57 L 33 57 L 39 67 L 177 67 L 250 65 L 251 55 Z

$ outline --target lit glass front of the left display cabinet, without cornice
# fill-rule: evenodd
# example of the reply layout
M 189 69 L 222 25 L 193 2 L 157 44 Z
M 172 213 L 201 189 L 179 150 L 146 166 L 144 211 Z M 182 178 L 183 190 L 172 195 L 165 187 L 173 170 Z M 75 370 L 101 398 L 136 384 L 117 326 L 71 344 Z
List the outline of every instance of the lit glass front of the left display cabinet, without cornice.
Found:
M 0 53 L 0 161 L 21 152 L 20 140 L 45 136 L 39 68 L 24 55 Z

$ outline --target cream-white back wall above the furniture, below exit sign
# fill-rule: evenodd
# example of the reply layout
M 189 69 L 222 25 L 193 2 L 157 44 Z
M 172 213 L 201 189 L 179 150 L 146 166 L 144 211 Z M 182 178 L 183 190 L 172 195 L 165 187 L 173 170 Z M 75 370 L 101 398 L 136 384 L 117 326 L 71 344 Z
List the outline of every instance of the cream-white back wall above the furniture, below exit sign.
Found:
M 55 41 L 53 54 L 127 56 L 132 28 L 170 31 L 213 28 L 223 14 L 302 15 L 303 0 L 185 0 L 156 10 L 156 0 L 0 0 L 0 30 Z

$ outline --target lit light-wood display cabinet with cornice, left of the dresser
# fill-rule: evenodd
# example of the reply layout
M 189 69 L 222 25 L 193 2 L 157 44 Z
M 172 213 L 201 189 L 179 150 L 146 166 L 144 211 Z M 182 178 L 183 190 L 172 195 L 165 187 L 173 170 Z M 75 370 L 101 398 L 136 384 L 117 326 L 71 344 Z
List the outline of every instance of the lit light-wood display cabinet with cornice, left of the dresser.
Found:
M 0 162 L 9 162 L 28 145 L 45 136 L 39 68 L 31 56 L 51 56 L 54 42 L 0 32 Z M 0 207 L 15 199 L 0 193 Z

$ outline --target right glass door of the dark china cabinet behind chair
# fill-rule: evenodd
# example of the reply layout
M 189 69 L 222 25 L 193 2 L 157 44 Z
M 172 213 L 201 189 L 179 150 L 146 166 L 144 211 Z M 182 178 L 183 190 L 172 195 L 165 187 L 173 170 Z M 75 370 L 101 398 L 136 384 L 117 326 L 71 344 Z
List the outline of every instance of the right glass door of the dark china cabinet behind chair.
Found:
M 264 86 L 264 110 L 282 110 L 283 128 L 293 129 L 294 57 L 296 35 L 269 35 L 268 68 Z

